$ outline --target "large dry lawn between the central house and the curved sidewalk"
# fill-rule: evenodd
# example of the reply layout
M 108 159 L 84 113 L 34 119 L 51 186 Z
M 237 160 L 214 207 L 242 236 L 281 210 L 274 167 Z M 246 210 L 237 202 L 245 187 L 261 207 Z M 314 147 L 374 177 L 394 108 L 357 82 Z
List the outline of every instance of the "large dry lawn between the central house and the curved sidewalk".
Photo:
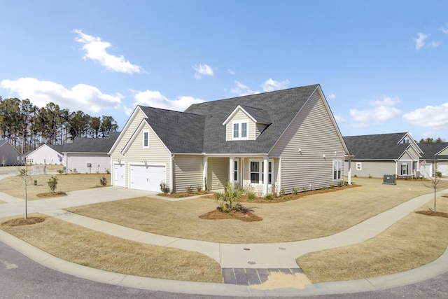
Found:
M 221 243 L 290 242 L 333 235 L 431 191 L 419 181 L 381 182 L 357 178 L 358 188 L 275 204 L 245 202 L 262 218 L 257 222 L 201 219 L 216 209 L 216 202 L 207 198 L 168 202 L 141 197 L 67 210 L 158 235 Z

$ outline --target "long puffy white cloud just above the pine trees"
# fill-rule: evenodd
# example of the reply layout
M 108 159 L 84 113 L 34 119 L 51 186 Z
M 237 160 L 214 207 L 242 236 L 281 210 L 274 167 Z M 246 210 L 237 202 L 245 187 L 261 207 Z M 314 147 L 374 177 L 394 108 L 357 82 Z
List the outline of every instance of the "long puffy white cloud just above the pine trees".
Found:
M 118 108 L 123 95 L 106 95 L 98 88 L 78 84 L 71 89 L 51 81 L 39 81 L 36 78 L 19 78 L 3 80 L 1 88 L 16 92 L 22 99 L 30 99 L 38 107 L 53 102 L 61 109 L 70 111 L 99 112 L 102 109 Z

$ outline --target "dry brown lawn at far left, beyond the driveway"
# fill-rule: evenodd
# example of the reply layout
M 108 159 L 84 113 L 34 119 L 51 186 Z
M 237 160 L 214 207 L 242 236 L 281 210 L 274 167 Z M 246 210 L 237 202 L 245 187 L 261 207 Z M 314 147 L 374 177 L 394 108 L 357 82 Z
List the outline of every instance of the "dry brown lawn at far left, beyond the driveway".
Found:
M 108 186 L 111 182 L 111 174 L 39 174 L 28 176 L 27 197 L 28 200 L 41 199 L 39 194 L 48 193 L 48 180 L 56 176 L 57 188 L 56 192 L 69 192 L 74 190 L 84 190 L 101 186 L 99 179 L 106 177 Z M 37 185 L 34 186 L 34 180 Z M 25 199 L 25 185 L 22 178 L 18 176 L 8 176 L 6 179 L 0 180 L 1 192 L 7 193 L 14 197 Z M 47 197 L 48 198 L 48 197 Z

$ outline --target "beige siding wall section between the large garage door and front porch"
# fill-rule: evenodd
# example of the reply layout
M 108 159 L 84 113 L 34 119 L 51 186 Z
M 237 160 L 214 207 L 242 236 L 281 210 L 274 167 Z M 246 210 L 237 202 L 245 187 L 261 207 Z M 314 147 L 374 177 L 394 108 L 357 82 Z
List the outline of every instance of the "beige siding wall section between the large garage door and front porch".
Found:
M 174 190 L 180 193 L 192 186 L 203 186 L 202 155 L 176 155 L 174 157 Z

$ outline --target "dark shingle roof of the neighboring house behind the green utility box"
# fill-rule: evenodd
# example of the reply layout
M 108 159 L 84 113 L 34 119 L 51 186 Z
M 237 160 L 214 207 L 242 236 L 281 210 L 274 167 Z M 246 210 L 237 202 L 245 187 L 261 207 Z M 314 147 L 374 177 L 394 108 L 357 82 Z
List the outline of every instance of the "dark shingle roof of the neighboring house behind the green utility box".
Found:
M 407 133 L 374 134 L 344 137 L 354 159 L 393 160 L 400 158 L 409 144 L 398 144 Z

